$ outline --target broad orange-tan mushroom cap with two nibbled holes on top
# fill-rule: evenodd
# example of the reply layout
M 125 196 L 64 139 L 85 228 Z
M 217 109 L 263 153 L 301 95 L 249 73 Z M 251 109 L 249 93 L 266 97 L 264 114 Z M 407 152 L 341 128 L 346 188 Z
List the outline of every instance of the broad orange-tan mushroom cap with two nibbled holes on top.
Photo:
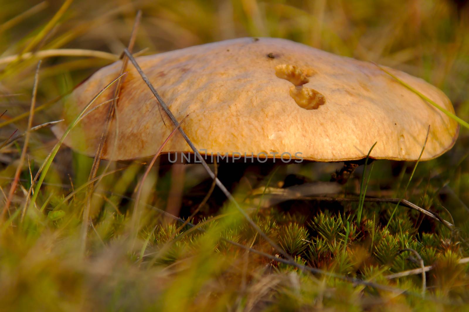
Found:
M 239 38 L 138 57 L 137 62 L 159 91 L 198 149 L 207 153 L 287 152 L 315 161 L 344 161 L 365 157 L 416 160 L 428 126 L 430 134 L 422 160 L 450 149 L 459 126 L 376 65 L 337 56 L 278 38 Z M 68 98 L 63 134 L 92 97 L 115 79 L 121 62 L 106 66 L 78 86 Z M 454 111 L 445 94 L 422 79 L 387 68 L 394 75 Z M 107 159 L 154 155 L 173 125 L 135 68 L 122 85 L 118 145 L 107 148 Z M 113 97 L 109 88 L 96 105 Z M 103 105 L 86 116 L 66 144 L 94 155 L 107 117 Z M 113 151 L 113 155 L 110 155 Z M 188 152 L 180 134 L 165 152 Z

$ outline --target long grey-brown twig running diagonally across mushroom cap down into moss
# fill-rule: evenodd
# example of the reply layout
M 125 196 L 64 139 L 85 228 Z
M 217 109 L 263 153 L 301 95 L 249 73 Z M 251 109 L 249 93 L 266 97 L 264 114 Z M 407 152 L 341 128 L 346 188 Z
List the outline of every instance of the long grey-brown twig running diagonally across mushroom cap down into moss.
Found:
M 174 126 L 179 126 L 179 122 L 177 121 L 177 119 L 174 117 L 173 113 L 169 110 L 169 108 L 167 107 L 166 103 L 163 101 L 163 99 L 159 96 L 158 92 L 156 91 L 156 89 L 153 87 L 153 85 L 151 84 L 150 80 L 148 79 L 148 77 L 146 76 L 146 74 L 142 71 L 142 68 L 140 68 L 140 66 L 137 64 L 135 58 L 132 56 L 132 54 L 129 52 L 129 50 L 125 49 L 124 50 L 125 54 L 127 54 L 127 56 L 129 57 L 129 60 L 132 62 L 132 64 L 134 65 L 134 67 L 136 68 L 137 72 L 140 74 L 140 76 L 142 76 L 142 79 L 144 80 L 144 82 L 147 84 L 148 88 L 150 88 L 151 92 L 153 93 L 153 95 L 157 98 L 159 104 L 161 105 L 161 107 L 163 108 L 163 110 L 166 112 L 166 114 L 169 116 L 169 118 L 171 119 L 171 121 L 173 122 Z M 244 218 L 246 218 L 246 220 L 248 221 L 248 223 L 260 234 L 260 236 L 262 236 L 262 238 L 264 238 L 275 250 L 277 250 L 279 253 L 281 253 L 285 258 L 287 258 L 289 261 L 291 262 L 294 262 L 293 258 L 288 255 L 283 249 L 280 248 L 279 245 L 275 244 L 272 239 L 270 239 L 267 235 L 265 235 L 265 233 L 257 226 L 256 223 L 254 223 L 254 221 L 252 221 L 251 217 L 241 208 L 241 206 L 238 204 L 238 202 L 234 199 L 233 195 L 231 195 L 231 193 L 227 190 L 227 188 L 223 185 L 223 183 L 221 183 L 221 181 L 219 180 L 219 178 L 217 178 L 215 176 L 215 174 L 213 173 L 213 171 L 210 169 L 210 167 L 208 166 L 208 164 L 205 162 L 205 159 L 204 157 L 202 157 L 202 155 L 200 155 L 199 151 L 197 150 L 197 148 L 195 147 L 194 143 L 192 143 L 192 141 L 190 141 L 189 137 L 187 136 L 187 134 L 184 132 L 184 130 L 180 127 L 179 128 L 179 132 L 181 133 L 182 137 L 184 138 L 184 140 L 186 140 L 187 144 L 189 144 L 190 148 L 194 151 L 194 153 L 197 155 L 197 158 L 200 160 L 200 162 L 202 163 L 202 165 L 204 166 L 204 169 L 208 172 L 208 174 L 210 175 L 210 177 L 212 177 L 212 179 L 215 180 L 215 183 L 217 184 L 217 186 L 221 189 L 221 191 L 225 194 L 225 196 L 227 196 L 227 198 L 234 204 L 234 207 L 236 207 L 239 212 L 244 216 Z

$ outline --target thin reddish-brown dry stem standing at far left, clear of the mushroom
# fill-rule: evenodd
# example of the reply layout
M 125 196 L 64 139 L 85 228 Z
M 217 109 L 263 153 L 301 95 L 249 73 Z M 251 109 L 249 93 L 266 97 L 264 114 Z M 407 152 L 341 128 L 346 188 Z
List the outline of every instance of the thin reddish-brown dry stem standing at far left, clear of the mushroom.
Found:
M 11 201 L 13 199 L 13 195 L 15 194 L 16 186 L 18 186 L 18 179 L 20 178 L 21 171 L 23 171 L 23 163 L 24 158 L 26 156 L 26 151 L 28 149 L 28 144 L 30 140 L 30 131 L 32 126 L 32 119 L 34 117 L 34 107 L 36 106 L 36 95 L 38 94 L 38 81 L 39 81 L 39 68 L 41 67 L 41 61 L 38 62 L 38 67 L 36 68 L 36 74 L 34 75 L 34 85 L 32 88 L 32 98 L 31 98 L 31 105 L 30 105 L 30 117 L 28 119 L 28 128 L 26 130 L 26 136 L 24 139 L 23 150 L 21 151 L 20 160 L 18 166 L 16 167 L 15 178 L 13 179 L 13 183 L 10 187 L 10 192 L 8 192 L 7 202 L 2 211 L 2 218 L 7 211 L 9 211 L 9 207 Z

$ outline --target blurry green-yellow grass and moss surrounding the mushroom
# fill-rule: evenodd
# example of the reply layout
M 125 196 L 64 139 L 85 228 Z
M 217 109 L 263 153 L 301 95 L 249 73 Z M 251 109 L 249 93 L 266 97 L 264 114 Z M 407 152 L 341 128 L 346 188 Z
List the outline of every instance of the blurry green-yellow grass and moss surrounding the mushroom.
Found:
M 329 181 L 340 163 L 208 165 L 234 201 L 189 164 L 179 215 L 164 211 L 173 177 L 156 157 L 101 161 L 90 177 L 93 160 L 61 147 L 67 133 L 57 140 L 49 129 L 66 95 L 130 37 L 134 51 L 150 54 L 242 36 L 285 37 L 422 77 L 452 99 L 464 126 L 469 19 L 451 1 L 29 2 L 0 10 L 2 309 L 468 309 L 466 127 L 453 149 L 418 167 L 379 160 L 367 170 L 365 161 L 335 200 L 261 205 L 290 186 Z

